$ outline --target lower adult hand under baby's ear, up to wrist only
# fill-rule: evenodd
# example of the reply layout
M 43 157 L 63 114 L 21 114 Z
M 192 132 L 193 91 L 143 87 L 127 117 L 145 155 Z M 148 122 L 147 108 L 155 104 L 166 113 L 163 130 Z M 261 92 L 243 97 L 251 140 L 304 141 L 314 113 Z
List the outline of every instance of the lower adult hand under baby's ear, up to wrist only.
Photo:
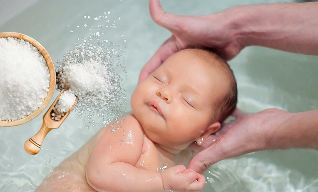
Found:
M 293 113 L 266 109 L 255 114 L 245 114 L 236 109 L 232 116 L 236 119 L 224 125 L 221 136 L 211 135 L 203 147 L 196 148 L 202 151 L 192 158 L 189 169 L 202 173 L 218 161 L 253 151 L 302 147 L 291 144 L 293 137 L 290 137 L 290 133 L 293 130 L 287 122 L 293 118 Z

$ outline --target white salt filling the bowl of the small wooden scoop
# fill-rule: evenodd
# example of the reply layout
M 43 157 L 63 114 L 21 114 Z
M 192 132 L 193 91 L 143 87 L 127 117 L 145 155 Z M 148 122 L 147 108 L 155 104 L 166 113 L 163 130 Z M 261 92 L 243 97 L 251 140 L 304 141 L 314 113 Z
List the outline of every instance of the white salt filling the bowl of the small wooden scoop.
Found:
M 74 105 L 76 100 L 76 96 L 72 91 L 65 91 L 59 97 L 59 100 L 56 102 L 53 107 L 53 113 L 51 114 L 51 118 L 54 120 L 59 120 L 62 118 L 68 110 Z

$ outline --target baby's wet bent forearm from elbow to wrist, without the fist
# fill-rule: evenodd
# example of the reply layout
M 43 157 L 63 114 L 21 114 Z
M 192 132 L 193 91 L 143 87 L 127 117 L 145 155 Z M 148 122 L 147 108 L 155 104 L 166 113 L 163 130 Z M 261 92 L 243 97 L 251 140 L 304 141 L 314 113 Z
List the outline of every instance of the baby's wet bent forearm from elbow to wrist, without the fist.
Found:
M 98 191 L 161 191 L 161 174 L 155 171 L 140 170 L 123 162 L 115 162 L 86 171 L 88 183 Z

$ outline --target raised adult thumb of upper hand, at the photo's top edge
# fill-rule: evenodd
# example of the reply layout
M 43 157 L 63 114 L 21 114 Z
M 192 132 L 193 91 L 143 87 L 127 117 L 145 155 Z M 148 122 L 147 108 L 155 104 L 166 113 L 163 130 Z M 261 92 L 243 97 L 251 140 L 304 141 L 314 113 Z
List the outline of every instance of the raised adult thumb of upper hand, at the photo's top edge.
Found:
M 159 0 L 149 1 L 149 11 L 151 18 L 160 26 L 170 30 L 178 31 L 184 22 L 184 16 L 174 15 L 164 11 Z

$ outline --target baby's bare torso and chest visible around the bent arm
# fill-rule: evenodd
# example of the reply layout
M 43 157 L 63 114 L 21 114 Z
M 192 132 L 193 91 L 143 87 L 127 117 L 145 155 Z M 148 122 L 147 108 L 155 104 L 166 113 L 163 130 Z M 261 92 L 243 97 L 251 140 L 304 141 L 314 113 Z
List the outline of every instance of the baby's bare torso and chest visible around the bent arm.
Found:
M 53 172 L 44 179 L 35 192 L 96 192 L 86 180 L 86 167 L 89 157 L 91 156 L 92 150 L 96 148 L 96 144 L 101 142 L 101 137 L 105 139 L 103 135 L 105 135 L 107 131 L 109 132 L 114 129 L 111 125 L 115 125 L 115 128 L 122 126 L 119 131 L 124 134 L 123 130 L 125 130 L 126 134 L 129 134 L 128 131 L 132 128 L 131 126 L 138 124 L 137 119 L 135 119 L 132 114 L 128 114 L 121 119 L 125 119 L 125 123 L 114 124 L 114 122 L 112 122 L 107 127 L 102 128 L 78 151 L 60 163 Z M 128 127 L 130 127 L 130 129 L 128 129 Z M 135 128 L 140 129 L 141 127 L 137 126 Z M 123 142 L 118 140 L 118 144 L 120 143 Z M 183 150 L 177 155 L 171 155 L 158 147 L 147 135 L 143 135 L 143 145 L 140 150 L 142 153 L 135 167 L 142 170 L 157 171 L 159 173 L 165 168 L 177 164 L 189 163 L 190 157 L 193 155 L 190 149 Z

